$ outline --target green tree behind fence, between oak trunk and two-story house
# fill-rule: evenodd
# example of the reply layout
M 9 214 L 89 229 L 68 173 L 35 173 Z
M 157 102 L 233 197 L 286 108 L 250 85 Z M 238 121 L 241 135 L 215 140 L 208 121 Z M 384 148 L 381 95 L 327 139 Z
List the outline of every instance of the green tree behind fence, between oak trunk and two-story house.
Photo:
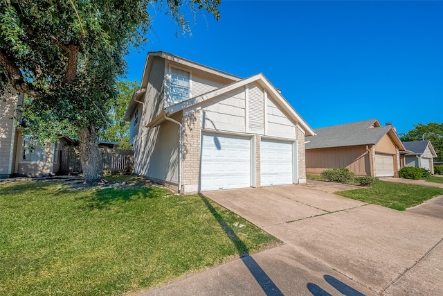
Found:
M 117 82 L 117 100 L 110 111 L 109 127 L 102 131 L 100 139 L 105 141 L 114 141 L 120 143 L 119 149 L 132 149 L 129 145 L 129 126 L 130 123 L 123 120 L 132 94 L 138 89 L 140 82 L 119 81 Z

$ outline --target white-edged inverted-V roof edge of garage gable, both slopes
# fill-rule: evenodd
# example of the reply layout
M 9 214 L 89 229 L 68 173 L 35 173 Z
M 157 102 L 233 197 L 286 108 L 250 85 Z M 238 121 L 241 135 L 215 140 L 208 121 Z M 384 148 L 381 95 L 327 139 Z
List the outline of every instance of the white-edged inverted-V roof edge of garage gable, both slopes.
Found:
M 288 114 L 289 117 L 293 119 L 293 121 L 296 121 L 296 123 L 300 125 L 300 127 L 302 128 L 302 130 L 305 131 L 305 134 L 307 136 L 315 134 L 314 130 L 312 130 L 312 128 L 302 119 L 300 114 L 298 114 L 296 110 L 293 109 L 293 107 L 288 103 L 288 101 L 286 101 L 286 99 L 280 94 L 278 89 L 276 89 L 271 84 L 271 82 L 269 82 L 269 80 L 267 80 L 266 77 L 264 77 L 262 73 L 258 73 L 254 76 L 233 82 L 219 89 L 214 89 L 213 91 L 207 92 L 206 94 L 202 94 L 200 96 L 196 96 L 186 101 L 166 107 L 165 110 L 163 110 L 163 112 L 161 112 L 158 116 L 156 116 L 156 118 L 154 118 L 151 121 L 151 123 L 149 123 L 147 126 L 149 128 L 153 128 L 154 126 L 159 125 L 165 120 L 164 118 L 165 115 L 170 116 L 174 113 L 185 110 L 188 107 L 199 105 L 200 103 L 208 101 L 210 98 L 215 98 L 217 96 L 221 96 L 222 94 L 226 94 L 226 92 L 230 92 L 233 89 L 244 87 L 244 85 L 248 85 L 249 83 L 252 82 L 259 82 L 260 85 L 262 85 L 262 87 L 264 87 L 271 94 L 272 98 L 275 99 L 276 103 L 278 103 L 278 105 L 282 107 L 282 110 L 284 110 L 284 112 Z

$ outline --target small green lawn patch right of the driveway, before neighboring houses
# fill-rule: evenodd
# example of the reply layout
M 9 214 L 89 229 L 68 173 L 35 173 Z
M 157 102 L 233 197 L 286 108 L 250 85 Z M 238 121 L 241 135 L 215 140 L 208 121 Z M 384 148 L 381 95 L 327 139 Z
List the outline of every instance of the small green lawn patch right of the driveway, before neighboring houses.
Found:
M 408 207 L 414 207 L 435 196 L 443 195 L 443 189 L 379 181 L 368 188 L 337 191 L 336 194 L 404 211 Z

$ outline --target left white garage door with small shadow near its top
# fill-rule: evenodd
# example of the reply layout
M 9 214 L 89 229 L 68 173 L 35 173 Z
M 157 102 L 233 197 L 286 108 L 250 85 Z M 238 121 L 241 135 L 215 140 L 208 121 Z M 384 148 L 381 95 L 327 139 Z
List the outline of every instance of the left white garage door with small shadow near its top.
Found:
M 203 134 L 201 191 L 251 186 L 251 140 L 246 137 Z

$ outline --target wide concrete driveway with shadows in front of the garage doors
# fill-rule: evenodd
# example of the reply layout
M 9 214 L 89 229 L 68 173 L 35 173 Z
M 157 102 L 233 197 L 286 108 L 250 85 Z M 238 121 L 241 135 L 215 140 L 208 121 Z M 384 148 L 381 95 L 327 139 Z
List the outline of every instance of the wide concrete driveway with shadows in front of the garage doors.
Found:
M 205 192 L 285 244 L 143 295 L 443 295 L 442 219 L 327 187 Z

